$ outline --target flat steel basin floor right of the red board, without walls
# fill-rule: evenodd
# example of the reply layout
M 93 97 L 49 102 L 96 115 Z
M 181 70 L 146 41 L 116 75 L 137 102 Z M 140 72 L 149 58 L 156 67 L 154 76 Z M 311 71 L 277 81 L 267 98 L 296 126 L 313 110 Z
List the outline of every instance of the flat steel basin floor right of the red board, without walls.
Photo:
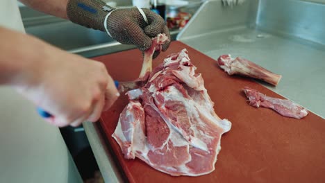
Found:
M 231 53 L 281 74 L 276 87 L 260 83 L 324 118 L 325 51 L 321 47 L 245 27 L 213 33 L 199 40 L 184 42 L 215 60 L 219 55 Z

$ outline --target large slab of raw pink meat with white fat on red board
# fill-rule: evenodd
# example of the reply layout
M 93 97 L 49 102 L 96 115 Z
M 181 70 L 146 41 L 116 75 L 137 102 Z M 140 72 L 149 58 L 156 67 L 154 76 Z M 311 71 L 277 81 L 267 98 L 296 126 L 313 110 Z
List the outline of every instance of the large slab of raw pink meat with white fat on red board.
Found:
M 113 137 L 126 159 L 138 157 L 170 175 L 205 175 L 215 170 L 222 134 L 231 122 L 220 119 L 188 52 L 170 55 L 129 103 Z

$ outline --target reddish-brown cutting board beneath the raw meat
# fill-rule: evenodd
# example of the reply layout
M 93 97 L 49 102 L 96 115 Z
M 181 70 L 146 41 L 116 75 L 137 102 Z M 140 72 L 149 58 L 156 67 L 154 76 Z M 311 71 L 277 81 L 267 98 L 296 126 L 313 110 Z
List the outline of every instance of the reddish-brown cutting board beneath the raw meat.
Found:
M 154 60 L 153 67 L 170 53 L 184 48 L 188 49 L 197 73 L 202 73 L 208 94 L 215 102 L 215 112 L 233 123 L 230 132 L 222 136 L 215 171 L 199 177 L 172 177 L 140 159 L 124 159 L 111 137 L 119 114 L 128 103 L 126 96 L 122 96 L 101 115 L 100 124 L 129 182 L 325 182 L 324 119 L 310 113 L 298 120 L 251 107 L 241 92 L 245 86 L 268 96 L 282 97 L 249 78 L 228 76 L 215 60 L 181 42 L 172 42 L 168 51 Z M 137 78 L 142 65 L 142 54 L 136 49 L 94 59 L 106 64 L 110 75 L 119 81 Z

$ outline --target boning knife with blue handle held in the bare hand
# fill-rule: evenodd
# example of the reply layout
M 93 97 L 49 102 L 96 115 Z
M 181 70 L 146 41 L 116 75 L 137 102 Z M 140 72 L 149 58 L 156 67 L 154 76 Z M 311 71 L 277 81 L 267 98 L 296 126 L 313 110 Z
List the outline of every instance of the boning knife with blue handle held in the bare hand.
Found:
M 119 82 L 117 80 L 114 81 L 115 87 L 120 93 L 128 92 L 132 89 L 137 89 L 139 87 L 142 87 L 144 84 L 146 84 L 146 80 L 136 80 L 136 81 L 125 81 L 125 82 Z M 37 108 L 38 114 L 42 116 L 43 118 L 50 118 L 52 114 L 49 114 L 49 112 L 46 112 L 41 107 Z

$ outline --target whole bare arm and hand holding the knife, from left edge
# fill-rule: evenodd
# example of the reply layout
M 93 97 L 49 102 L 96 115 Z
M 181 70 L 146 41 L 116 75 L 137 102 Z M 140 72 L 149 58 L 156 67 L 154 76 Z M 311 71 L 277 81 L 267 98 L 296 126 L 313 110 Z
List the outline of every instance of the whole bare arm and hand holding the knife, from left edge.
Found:
M 0 26 L 0 85 L 10 85 L 53 116 L 53 125 L 97 121 L 117 99 L 104 64 Z

